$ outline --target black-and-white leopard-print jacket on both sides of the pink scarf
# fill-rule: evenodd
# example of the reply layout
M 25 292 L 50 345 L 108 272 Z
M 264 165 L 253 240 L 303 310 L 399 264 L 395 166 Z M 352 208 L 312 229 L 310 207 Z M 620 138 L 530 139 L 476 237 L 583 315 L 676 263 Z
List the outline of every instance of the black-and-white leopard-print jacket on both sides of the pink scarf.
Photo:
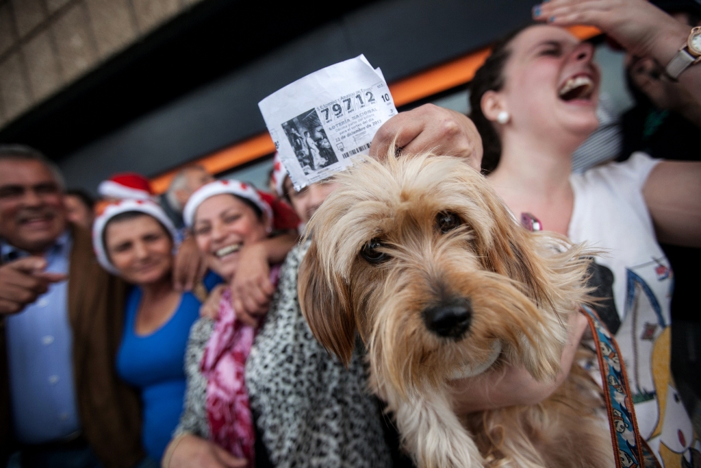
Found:
M 391 467 L 378 401 L 367 392 L 362 347 L 350 366 L 329 355 L 299 309 L 297 271 L 308 248 L 292 249 L 246 363 L 258 433 L 277 468 Z M 206 380 L 199 371 L 214 323 L 194 323 L 185 356 L 188 387 L 175 434 L 207 438 Z

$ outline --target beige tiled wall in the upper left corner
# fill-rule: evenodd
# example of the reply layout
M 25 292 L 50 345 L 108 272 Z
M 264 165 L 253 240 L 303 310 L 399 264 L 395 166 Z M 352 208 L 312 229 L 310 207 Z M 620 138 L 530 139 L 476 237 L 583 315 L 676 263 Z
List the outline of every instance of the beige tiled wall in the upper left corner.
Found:
M 0 128 L 200 0 L 0 0 Z

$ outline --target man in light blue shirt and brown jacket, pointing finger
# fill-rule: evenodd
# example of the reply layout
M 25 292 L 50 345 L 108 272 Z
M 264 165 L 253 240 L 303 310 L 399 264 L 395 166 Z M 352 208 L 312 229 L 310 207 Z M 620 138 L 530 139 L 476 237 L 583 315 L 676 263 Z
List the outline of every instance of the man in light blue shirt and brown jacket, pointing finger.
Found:
M 129 468 L 143 453 L 114 371 L 125 289 L 62 192 L 41 154 L 0 145 L 0 466 L 19 448 L 23 467 Z

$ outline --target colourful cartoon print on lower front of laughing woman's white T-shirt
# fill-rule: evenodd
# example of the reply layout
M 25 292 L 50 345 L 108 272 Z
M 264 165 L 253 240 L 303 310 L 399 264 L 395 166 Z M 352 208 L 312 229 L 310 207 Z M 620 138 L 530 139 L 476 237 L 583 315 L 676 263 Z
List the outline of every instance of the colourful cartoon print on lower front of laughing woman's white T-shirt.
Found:
M 626 269 L 625 315 L 616 333 L 624 354 L 641 436 L 665 468 L 701 467 L 701 442 L 676 392 L 670 370 L 672 328 L 666 258 Z M 696 462 L 696 464 L 694 464 Z

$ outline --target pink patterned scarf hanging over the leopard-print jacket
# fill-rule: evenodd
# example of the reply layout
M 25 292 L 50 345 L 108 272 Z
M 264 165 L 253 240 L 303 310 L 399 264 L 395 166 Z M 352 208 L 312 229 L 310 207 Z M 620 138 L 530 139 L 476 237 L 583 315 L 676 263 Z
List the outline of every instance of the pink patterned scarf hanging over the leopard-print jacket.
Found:
M 279 266 L 271 268 L 273 286 L 278 283 L 279 272 Z M 226 288 L 200 368 L 207 379 L 210 440 L 231 455 L 248 460 L 249 467 L 255 466 L 255 429 L 244 375 L 255 334 L 256 328 L 236 319 L 231 290 Z

